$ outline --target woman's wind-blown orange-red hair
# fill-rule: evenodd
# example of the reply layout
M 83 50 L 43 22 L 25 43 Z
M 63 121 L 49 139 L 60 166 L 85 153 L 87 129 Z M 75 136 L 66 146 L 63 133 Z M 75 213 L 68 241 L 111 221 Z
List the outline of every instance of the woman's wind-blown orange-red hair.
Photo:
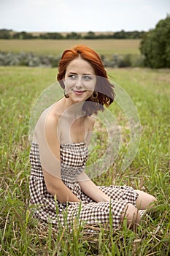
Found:
M 113 102 L 115 98 L 115 93 L 113 91 L 114 86 L 107 78 L 107 71 L 104 69 L 104 64 L 98 53 L 86 45 L 76 45 L 72 49 L 64 50 L 61 60 L 59 61 L 57 80 L 63 89 L 63 78 L 66 74 L 66 67 L 72 60 L 78 58 L 78 56 L 81 56 L 82 59 L 85 59 L 85 61 L 88 61 L 91 64 L 95 71 L 95 75 L 97 76 L 95 88 L 97 97 L 95 97 L 95 99 L 89 97 L 83 105 L 83 110 L 90 116 L 93 113 L 97 113 L 98 110 L 104 110 L 104 105 L 108 107 Z M 89 106 L 89 101 L 94 102 L 94 104 Z

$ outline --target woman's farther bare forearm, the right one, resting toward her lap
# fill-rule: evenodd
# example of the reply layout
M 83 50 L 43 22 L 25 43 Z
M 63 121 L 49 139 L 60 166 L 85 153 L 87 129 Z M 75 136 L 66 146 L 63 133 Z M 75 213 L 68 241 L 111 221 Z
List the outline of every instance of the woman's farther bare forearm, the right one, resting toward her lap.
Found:
M 109 202 L 110 197 L 108 197 L 104 192 L 99 189 L 93 181 L 87 176 L 85 172 L 82 172 L 79 176 L 77 176 L 77 181 L 80 184 L 82 192 L 85 195 L 88 195 L 91 199 L 96 202 Z

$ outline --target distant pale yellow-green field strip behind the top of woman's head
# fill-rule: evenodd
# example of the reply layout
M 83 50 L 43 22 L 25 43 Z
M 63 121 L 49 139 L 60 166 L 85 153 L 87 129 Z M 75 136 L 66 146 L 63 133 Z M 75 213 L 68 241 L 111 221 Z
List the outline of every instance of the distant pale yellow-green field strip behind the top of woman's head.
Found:
M 46 40 L 46 39 L 29 39 L 29 40 L 0 40 L 1 51 L 11 52 L 32 52 L 38 54 L 60 55 L 64 49 L 73 45 L 82 43 L 90 46 L 99 54 L 106 56 L 110 54 L 139 54 L 140 39 L 80 39 L 80 40 Z

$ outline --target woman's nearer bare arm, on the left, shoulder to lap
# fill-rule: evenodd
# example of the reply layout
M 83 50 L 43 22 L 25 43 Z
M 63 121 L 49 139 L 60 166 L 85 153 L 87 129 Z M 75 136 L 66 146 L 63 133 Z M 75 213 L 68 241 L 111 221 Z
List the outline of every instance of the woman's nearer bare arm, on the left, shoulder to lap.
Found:
M 57 133 L 57 118 L 53 114 L 42 118 L 36 129 L 39 156 L 47 191 L 56 195 L 61 203 L 80 202 L 74 193 L 61 180 L 60 143 Z

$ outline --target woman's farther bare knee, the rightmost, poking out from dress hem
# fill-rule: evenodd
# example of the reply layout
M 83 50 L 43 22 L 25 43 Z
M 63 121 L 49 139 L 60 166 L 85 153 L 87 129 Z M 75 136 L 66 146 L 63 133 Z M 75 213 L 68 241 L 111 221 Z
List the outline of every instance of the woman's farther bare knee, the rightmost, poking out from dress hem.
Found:
M 136 190 L 139 197 L 136 200 L 136 207 L 141 210 L 152 208 L 153 204 L 157 201 L 155 197 L 141 190 Z

